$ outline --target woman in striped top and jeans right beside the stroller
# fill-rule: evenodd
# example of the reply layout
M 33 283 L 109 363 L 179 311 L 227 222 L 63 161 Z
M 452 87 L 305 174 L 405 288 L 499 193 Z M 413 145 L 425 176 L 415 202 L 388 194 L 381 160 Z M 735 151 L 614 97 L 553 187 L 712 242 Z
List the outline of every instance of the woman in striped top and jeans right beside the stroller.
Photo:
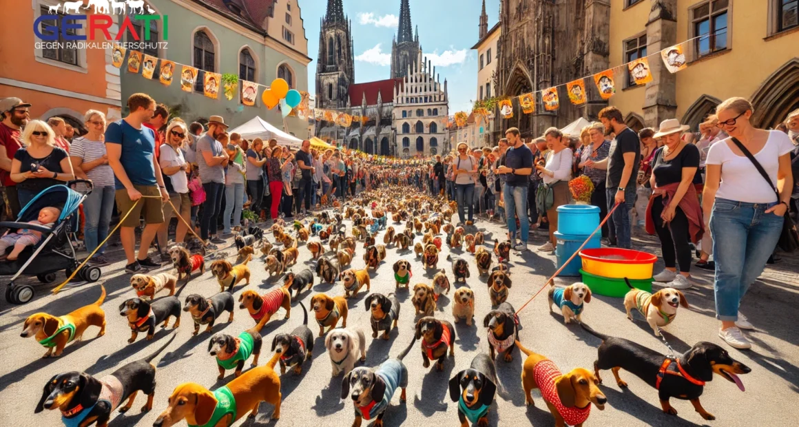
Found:
M 83 202 L 85 229 L 83 241 L 91 253 L 97 245 L 108 237 L 109 224 L 113 214 L 113 170 L 108 165 L 105 154 L 105 114 L 97 110 L 86 111 L 84 123 L 89 132 L 75 138 L 70 146 L 70 162 L 75 175 L 89 179 L 93 184 L 92 194 Z M 94 254 L 94 265 L 107 265 L 105 246 Z

